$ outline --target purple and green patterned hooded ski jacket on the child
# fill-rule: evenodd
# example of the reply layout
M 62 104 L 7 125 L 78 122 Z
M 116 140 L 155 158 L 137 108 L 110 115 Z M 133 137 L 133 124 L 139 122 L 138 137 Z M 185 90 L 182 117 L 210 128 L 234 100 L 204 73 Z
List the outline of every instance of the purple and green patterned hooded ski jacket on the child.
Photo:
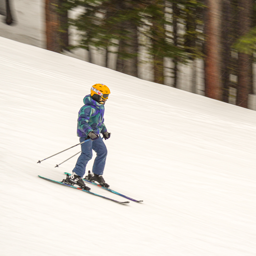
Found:
M 89 132 L 107 132 L 104 124 L 104 105 L 93 100 L 91 95 L 84 97 L 84 106 L 78 112 L 77 136 L 87 137 Z

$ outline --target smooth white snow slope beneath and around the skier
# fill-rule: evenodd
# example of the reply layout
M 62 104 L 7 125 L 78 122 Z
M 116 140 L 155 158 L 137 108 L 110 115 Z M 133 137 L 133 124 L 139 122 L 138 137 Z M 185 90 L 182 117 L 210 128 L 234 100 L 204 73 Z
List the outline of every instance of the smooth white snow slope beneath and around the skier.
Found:
M 255 111 L 2 37 L 0 49 L 0 255 L 255 255 Z M 77 157 L 54 166 L 78 147 L 36 162 L 78 143 L 95 83 L 111 90 L 104 177 L 141 204 L 37 177 L 72 171 Z

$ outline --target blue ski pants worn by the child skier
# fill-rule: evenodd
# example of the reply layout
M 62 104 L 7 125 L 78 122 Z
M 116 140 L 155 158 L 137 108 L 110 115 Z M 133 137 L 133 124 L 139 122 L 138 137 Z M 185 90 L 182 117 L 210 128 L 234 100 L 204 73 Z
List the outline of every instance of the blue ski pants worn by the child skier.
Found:
M 87 140 L 87 138 L 80 138 L 80 142 Z M 85 173 L 86 164 L 92 159 L 92 149 L 96 152 L 97 156 L 94 160 L 92 172 L 95 174 L 102 175 L 107 158 L 107 148 L 101 137 L 97 140 L 88 140 L 81 144 L 81 155 L 76 161 L 76 166 L 73 170 L 78 176 L 83 177 Z

